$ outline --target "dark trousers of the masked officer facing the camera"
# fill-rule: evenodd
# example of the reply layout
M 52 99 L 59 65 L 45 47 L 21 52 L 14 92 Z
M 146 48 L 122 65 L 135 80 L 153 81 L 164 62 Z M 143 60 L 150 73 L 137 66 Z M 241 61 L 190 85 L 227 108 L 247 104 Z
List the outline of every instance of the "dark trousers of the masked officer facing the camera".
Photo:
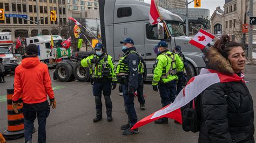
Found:
M 106 112 L 110 115 L 112 112 L 111 95 L 111 82 L 95 82 L 92 86 L 92 92 L 95 96 L 96 115 L 102 116 L 102 92 L 105 98 Z

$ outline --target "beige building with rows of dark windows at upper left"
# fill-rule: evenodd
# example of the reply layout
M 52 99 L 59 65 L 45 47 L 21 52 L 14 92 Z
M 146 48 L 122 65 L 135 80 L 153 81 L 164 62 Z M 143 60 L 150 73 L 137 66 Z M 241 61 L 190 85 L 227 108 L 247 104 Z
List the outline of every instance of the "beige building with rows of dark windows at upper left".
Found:
M 36 5 L 36 0 L 2 0 L 0 1 L 1 8 L 7 15 L 27 15 L 29 20 L 36 22 L 38 12 L 39 19 L 42 19 L 39 24 L 41 28 L 39 33 L 43 35 L 60 34 L 60 25 L 66 24 L 66 13 L 68 13 L 65 0 L 38 0 L 38 5 Z M 51 10 L 56 11 L 56 22 L 50 20 Z M 29 20 L 5 17 L 5 20 L 0 20 L 0 32 L 11 32 L 12 39 L 33 37 L 38 34 L 38 27 L 36 23 Z

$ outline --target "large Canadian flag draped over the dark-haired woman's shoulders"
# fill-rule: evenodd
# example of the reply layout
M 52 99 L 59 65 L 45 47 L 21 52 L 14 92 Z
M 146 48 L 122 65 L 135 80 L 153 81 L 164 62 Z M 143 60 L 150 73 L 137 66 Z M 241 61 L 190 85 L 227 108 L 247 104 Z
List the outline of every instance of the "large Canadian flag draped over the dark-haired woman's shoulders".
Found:
M 151 121 L 167 117 L 182 123 L 181 111 L 180 108 L 194 98 L 196 98 L 201 92 L 206 88 L 210 87 L 214 83 L 219 82 L 231 82 L 231 81 L 242 81 L 242 77 L 239 77 L 237 74 L 233 75 L 224 75 L 218 73 L 218 71 L 210 69 L 201 69 L 200 75 L 194 76 L 188 81 L 186 87 L 181 90 L 172 104 L 165 106 L 164 108 L 152 113 L 151 115 L 143 118 L 138 121 L 131 130 L 134 130 L 140 126 L 146 125 Z

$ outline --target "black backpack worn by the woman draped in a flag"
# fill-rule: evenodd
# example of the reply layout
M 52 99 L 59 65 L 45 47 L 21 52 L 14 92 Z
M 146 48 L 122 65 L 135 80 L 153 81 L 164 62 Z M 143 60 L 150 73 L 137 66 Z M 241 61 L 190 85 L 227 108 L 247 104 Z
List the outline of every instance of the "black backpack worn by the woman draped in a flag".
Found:
M 225 98 L 231 93 L 231 83 L 224 83 L 224 92 Z M 182 106 L 181 109 L 181 118 L 182 118 L 182 128 L 184 131 L 192 131 L 194 133 L 200 131 L 201 126 L 201 113 L 203 113 L 201 108 L 201 96 L 198 95 L 192 101 Z

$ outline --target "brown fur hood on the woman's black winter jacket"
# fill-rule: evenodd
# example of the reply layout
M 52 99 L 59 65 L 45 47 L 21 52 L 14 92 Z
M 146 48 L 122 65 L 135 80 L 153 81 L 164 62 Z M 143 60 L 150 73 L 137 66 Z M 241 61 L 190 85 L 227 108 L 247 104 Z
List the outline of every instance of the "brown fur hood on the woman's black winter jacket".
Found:
M 207 58 L 207 68 L 217 70 L 223 74 L 234 74 L 234 70 L 231 66 L 230 61 L 224 58 L 217 49 L 210 48 L 206 53 Z

